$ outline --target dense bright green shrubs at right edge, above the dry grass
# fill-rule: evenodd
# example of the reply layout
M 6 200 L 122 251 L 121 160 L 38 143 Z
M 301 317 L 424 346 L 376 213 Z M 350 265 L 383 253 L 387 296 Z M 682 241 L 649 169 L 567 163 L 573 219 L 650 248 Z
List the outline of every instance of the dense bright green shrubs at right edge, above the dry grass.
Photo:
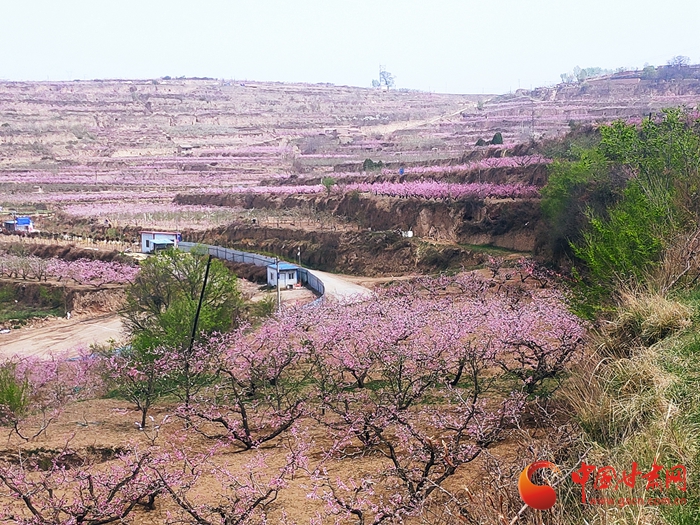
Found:
M 542 190 L 545 243 L 556 257 L 586 265 L 592 286 L 641 280 L 664 248 L 700 217 L 700 128 L 692 115 L 665 110 L 639 125 L 599 129 L 600 143 L 559 159 Z

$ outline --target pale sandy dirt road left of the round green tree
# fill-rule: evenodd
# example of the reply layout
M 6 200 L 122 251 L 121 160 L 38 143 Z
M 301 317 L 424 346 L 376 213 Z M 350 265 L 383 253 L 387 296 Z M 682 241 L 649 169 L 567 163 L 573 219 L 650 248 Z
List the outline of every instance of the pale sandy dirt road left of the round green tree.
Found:
M 122 336 L 122 321 L 117 314 L 91 319 L 55 319 L 37 328 L 22 328 L 0 334 L 0 356 L 44 355 L 72 352 L 93 343 L 106 343 Z

